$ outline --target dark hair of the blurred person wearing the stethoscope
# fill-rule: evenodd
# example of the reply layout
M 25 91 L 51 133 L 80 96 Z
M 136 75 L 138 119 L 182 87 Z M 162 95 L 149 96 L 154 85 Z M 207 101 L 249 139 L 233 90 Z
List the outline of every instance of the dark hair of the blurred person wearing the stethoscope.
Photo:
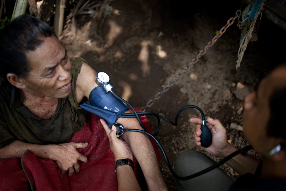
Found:
M 269 100 L 270 119 L 268 134 L 286 139 L 286 88 L 275 90 Z

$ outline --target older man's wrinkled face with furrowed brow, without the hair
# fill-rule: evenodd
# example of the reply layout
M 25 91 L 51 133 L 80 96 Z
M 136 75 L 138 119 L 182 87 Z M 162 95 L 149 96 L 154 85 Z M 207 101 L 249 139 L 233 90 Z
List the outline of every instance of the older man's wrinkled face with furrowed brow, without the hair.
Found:
M 23 83 L 39 97 L 64 98 L 71 92 L 71 63 L 60 42 L 51 36 L 26 53 L 31 71 Z

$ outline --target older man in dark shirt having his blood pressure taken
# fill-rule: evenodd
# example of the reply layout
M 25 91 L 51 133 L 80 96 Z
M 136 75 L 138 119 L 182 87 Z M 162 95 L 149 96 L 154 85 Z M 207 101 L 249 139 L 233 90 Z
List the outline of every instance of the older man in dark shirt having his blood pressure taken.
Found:
M 86 115 L 79 107 L 98 86 L 94 80 L 96 71 L 82 58 L 69 58 L 67 50 L 61 46 L 51 28 L 32 16 L 18 17 L 0 33 L 0 158 L 21 157 L 28 149 L 38 158 L 54 161 L 60 168 L 58 176 L 65 176 L 68 182 L 65 184 L 74 189 L 70 186 L 73 183 L 69 182 L 67 174 L 70 177 L 80 176 L 77 173 L 84 163 L 87 163 L 87 168 L 92 160 L 98 160 L 101 164 L 106 157 L 110 157 L 109 154 L 98 156 L 108 153 L 108 139 L 100 133 L 104 129 L 98 125 L 99 118 Z M 123 124 L 125 128 L 141 129 L 136 119 L 119 118 L 116 123 Z M 92 130 L 85 131 L 89 128 L 86 126 Z M 91 136 L 87 141 L 82 137 L 76 139 L 75 135 L 81 132 L 93 132 L 94 135 L 82 135 Z M 149 189 L 167 190 L 149 139 L 139 133 L 125 133 L 123 138 L 134 152 Z M 91 145 L 88 142 L 91 139 L 97 141 Z M 69 142 L 66 143 L 67 141 Z M 91 148 L 97 147 L 102 149 L 98 155 L 92 155 L 90 159 L 85 156 L 92 153 Z M 114 159 L 110 161 L 103 162 L 104 168 L 98 172 L 92 172 L 98 174 L 103 183 L 116 179 Z M 24 167 L 23 163 L 25 160 L 22 160 Z M 106 163 L 112 164 L 112 167 Z M 28 177 L 25 168 L 24 172 Z M 98 181 L 95 180 L 98 176 L 80 180 L 82 190 L 115 189 L 104 184 L 88 188 L 86 185 Z M 30 180 L 29 182 L 32 186 Z

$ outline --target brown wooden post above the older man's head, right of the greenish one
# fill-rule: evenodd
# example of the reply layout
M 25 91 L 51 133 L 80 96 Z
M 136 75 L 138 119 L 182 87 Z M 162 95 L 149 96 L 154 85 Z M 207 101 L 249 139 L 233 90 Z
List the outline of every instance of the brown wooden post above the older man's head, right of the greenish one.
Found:
M 64 15 L 65 15 L 65 0 L 56 0 L 56 2 L 55 2 L 54 31 L 58 37 L 63 32 Z

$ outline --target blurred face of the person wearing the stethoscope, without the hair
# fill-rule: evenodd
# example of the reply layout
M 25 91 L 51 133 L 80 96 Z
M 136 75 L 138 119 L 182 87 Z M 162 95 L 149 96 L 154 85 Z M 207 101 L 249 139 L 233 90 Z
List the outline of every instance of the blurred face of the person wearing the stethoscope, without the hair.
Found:
M 275 88 L 286 86 L 286 67 L 279 67 L 259 84 L 257 92 L 245 97 L 243 132 L 249 143 L 261 154 L 267 154 L 279 144 L 275 137 L 267 135 L 270 119 L 269 99 Z

